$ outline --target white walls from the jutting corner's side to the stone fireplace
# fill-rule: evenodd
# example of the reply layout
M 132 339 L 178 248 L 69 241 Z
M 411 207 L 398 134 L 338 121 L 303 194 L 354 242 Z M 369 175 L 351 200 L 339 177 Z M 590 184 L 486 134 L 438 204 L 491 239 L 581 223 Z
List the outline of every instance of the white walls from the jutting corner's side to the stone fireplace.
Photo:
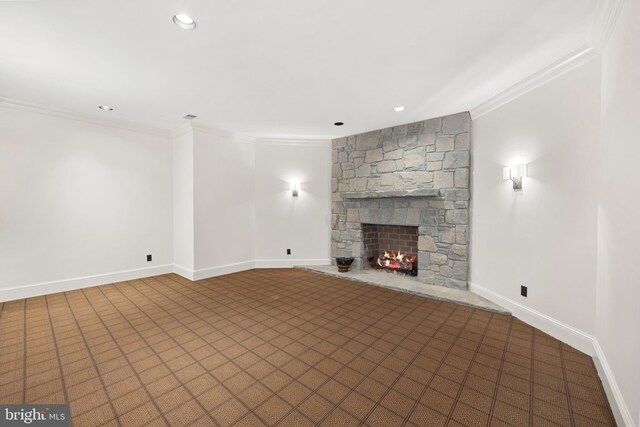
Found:
M 189 124 L 173 148 L 177 273 L 329 263 L 330 141 L 256 142 Z

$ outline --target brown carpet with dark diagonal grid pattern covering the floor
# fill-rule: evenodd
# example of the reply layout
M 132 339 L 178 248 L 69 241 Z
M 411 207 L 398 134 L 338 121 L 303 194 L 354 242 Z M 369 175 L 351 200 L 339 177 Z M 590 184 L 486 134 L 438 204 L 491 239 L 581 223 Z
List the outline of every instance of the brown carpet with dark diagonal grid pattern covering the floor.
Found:
M 480 309 L 294 269 L 0 304 L 0 403 L 74 426 L 610 426 L 592 359 Z

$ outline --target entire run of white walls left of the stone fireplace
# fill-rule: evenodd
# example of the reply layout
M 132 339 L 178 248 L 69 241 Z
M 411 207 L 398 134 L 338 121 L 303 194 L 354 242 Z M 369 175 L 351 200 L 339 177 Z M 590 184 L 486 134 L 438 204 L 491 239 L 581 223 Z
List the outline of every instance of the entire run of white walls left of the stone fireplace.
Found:
M 330 144 L 305 143 L 256 162 L 253 138 L 191 124 L 165 137 L 0 107 L 0 301 L 328 262 Z M 303 181 L 294 205 L 283 171 Z

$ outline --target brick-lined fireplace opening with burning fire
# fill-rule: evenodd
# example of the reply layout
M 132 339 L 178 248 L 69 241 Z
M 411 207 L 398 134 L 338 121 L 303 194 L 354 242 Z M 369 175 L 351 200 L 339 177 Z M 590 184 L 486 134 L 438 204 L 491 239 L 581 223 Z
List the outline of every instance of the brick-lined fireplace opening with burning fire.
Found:
M 418 227 L 362 224 L 365 268 L 418 275 Z

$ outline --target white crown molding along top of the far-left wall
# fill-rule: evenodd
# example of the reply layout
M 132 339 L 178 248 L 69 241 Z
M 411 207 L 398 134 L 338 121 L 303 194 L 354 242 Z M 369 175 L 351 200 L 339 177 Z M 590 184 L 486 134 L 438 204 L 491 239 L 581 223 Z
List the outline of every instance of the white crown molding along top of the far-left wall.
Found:
M 142 126 L 136 123 L 127 122 L 124 120 L 114 120 L 107 118 L 99 118 L 88 114 L 76 114 L 69 111 L 59 110 L 51 107 L 45 107 L 43 105 L 31 104 L 24 101 L 18 101 L 16 99 L 0 97 L 0 106 L 6 107 L 12 110 L 26 111 L 29 113 L 42 114 L 50 117 L 57 117 L 66 120 L 73 120 L 76 122 L 105 126 L 114 129 L 126 130 L 130 132 L 144 133 L 152 136 L 168 137 L 169 132 L 164 129 Z

